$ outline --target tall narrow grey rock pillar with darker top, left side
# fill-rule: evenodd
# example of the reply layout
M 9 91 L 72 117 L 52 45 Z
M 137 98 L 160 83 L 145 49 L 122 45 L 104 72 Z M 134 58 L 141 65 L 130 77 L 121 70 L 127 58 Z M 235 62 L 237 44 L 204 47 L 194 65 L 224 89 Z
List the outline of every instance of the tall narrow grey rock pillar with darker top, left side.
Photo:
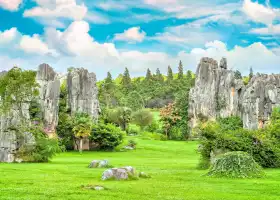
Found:
M 48 64 L 39 65 L 36 80 L 40 85 L 39 104 L 47 133 L 54 133 L 58 123 L 60 80 Z

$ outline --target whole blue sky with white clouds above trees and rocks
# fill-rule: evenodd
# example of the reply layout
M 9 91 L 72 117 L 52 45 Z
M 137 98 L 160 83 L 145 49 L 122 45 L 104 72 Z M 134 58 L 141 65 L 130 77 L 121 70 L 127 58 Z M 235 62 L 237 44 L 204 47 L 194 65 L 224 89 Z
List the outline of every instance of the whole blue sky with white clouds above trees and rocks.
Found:
M 98 79 L 127 67 L 195 71 L 227 58 L 244 75 L 280 73 L 279 0 L 0 0 L 0 71 L 84 67 Z

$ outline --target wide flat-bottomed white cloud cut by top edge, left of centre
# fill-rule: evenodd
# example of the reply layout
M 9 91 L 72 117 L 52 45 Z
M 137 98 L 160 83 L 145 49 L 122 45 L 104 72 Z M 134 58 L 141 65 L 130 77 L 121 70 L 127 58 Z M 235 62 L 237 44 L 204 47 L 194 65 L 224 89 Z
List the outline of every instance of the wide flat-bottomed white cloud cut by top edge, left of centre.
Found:
M 35 0 L 37 7 L 24 12 L 25 17 L 69 18 L 81 20 L 86 16 L 87 7 L 78 5 L 76 0 Z

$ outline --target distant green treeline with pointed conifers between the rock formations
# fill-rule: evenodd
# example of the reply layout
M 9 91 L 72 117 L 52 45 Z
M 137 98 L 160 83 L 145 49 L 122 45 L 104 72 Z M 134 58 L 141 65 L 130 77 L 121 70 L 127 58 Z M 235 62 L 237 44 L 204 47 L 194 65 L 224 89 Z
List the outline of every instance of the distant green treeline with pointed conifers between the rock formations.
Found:
M 177 95 L 194 83 L 194 74 L 190 70 L 185 73 L 181 61 L 178 73 L 173 73 L 170 66 L 167 71 L 167 75 L 163 75 L 159 68 L 155 73 L 147 69 L 146 76 L 131 78 L 128 68 L 125 68 L 116 79 L 108 72 L 107 77 L 98 82 L 101 107 L 125 106 L 139 110 L 162 108 L 174 102 Z

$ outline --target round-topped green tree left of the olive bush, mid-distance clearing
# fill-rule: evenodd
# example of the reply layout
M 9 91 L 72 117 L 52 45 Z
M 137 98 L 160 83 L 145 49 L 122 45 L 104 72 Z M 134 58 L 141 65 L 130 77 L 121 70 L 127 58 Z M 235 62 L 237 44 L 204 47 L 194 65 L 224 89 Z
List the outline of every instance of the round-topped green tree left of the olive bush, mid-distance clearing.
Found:
M 119 107 L 108 112 L 108 121 L 119 125 L 123 131 L 127 130 L 132 119 L 132 111 L 127 107 Z

